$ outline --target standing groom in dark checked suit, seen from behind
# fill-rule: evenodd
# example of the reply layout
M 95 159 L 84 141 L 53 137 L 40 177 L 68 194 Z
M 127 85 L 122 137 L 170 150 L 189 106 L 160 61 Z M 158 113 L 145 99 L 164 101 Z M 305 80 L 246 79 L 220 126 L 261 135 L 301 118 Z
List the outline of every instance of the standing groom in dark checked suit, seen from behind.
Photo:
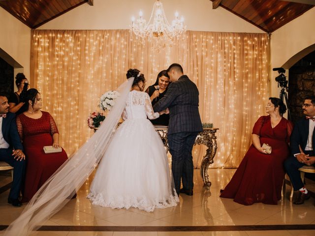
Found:
M 173 63 L 167 69 L 171 84 L 161 100 L 153 107 L 155 112 L 169 108 L 167 139 L 172 155 L 172 173 L 177 194 L 193 194 L 192 147 L 202 124 L 198 110 L 197 86 L 184 75 L 180 64 Z M 181 187 L 181 180 L 183 188 Z

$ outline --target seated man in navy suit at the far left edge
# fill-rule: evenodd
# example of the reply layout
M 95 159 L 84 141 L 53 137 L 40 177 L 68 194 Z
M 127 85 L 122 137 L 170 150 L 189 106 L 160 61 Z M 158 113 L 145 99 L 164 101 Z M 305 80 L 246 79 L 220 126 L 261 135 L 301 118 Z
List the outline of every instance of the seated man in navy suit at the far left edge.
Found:
M 0 93 L 0 161 L 14 167 L 13 183 L 8 203 L 15 207 L 22 204 L 19 194 L 25 171 L 25 155 L 17 131 L 15 114 L 9 112 L 9 103 L 5 94 Z

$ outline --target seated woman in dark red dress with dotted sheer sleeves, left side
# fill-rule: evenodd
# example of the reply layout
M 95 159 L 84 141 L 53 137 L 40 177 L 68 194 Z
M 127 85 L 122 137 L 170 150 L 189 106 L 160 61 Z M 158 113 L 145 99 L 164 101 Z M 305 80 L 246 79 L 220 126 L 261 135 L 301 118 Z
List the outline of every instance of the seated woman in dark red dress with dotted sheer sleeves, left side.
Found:
M 64 150 L 47 154 L 43 150 L 44 146 L 59 148 L 59 132 L 52 116 L 40 111 L 40 93 L 36 89 L 29 89 L 26 101 L 27 111 L 16 118 L 27 161 L 23 202 L 30 201 L 43 183 L 67 160 Z

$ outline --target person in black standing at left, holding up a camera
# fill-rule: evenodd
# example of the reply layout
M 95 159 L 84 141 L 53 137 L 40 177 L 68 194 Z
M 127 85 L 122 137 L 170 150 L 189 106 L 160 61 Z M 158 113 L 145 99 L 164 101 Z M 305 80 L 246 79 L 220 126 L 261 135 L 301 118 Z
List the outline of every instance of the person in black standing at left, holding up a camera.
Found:
M 11 113 L 15 113 L 16 115 L 20 115 L 23 113 L 22 106 L 25 104 L 25 94 L 29 89 L 30 84 L 28 83 L 28 79 L 25 77 L 23 73 L 18 73 L 15 77 L 15 84 L 18 90 L 9 97 L 9 111 Z

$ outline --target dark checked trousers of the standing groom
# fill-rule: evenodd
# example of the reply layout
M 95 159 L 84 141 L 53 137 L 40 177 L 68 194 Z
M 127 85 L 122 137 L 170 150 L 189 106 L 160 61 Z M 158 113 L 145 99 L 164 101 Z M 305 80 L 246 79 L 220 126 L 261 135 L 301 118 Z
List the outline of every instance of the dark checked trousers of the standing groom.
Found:
M 169 152 L 172 155 L 172 173 L 175 189 L 179 193 L 181 179 L 183 187 L 193 189 L 192 147 L 198 132 L 180 132 L 167 135 Z

